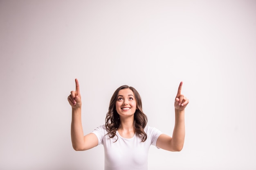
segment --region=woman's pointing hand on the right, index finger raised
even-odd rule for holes
[[[177,96],[175,98],[174,107],[177,110],[184,110],[185,107],[189,104],[189,99],[187,99],[183,94],[181,94],[183,82],[180,82],[180,86],[178,88]]]

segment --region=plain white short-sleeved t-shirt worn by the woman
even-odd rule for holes
[[[105,125],[94,129],[98,137],[99,144],[103,144],[105,153],[105,170],[147,170],[148,169],[148,150],[150,145],[156,146],[157,138],[162,134],[156,128],[146,126],[144,131],[147,134],[145,142],[141,142],[141,137],[135,135],[126,139],[116,132],[117,137],[110,138],[106,135]],[[98,144],[98,145],[99,145]]]

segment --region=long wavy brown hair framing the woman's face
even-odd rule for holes
[[[109,134],[110,138],[117,136],[116,131],[120,127],[120,117],[116,110],[117,95],[121,89],[128,88],[132,90],[132,92],[134,93],[135,100],[137,102],[137,109],[134,113],[134,129],[137,135],[141,136],[141,142],[145,142],[147,139],[147,134],[145,133],[144,128],[148,122],[148,118],[142,111],[142,102],[139,93],[134,87],[130,87],[128,85],[122,85],[119,88],[117,88],[110,100],[108,113],[105,119],[105,126],[108,131],[107,135]]]

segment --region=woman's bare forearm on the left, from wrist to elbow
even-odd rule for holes
[[[81,107],[72,108],[71,140],[74,150],[79,150],[84,144]]]

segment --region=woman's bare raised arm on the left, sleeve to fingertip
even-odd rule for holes
[[[71,122],[71,140],[74,150],[88,150],[98,145],[98,138],[94,133],[88,135],[83,134],[83,126],[81,120],[81,94],[78,80],[76,82],[76,91],[71,91],[67,97],[68,102],[72,107],[72,122]]]

